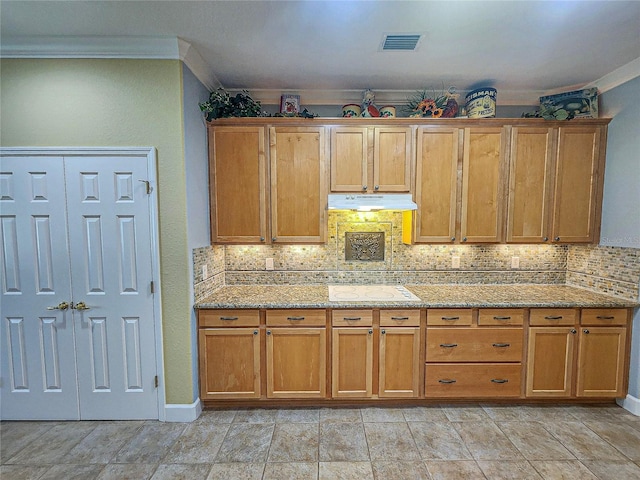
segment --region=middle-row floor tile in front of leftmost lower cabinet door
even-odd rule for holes
[[[268,423],[232,423],[216,462],[266,462],[273,429],[274,424]]]

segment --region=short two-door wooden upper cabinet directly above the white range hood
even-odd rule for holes
[[[411,127],[331,128],[332,192],[410,192]]]

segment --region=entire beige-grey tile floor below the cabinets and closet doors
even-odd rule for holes
[[[1,422],[0,447],[3,480],[640,479],[640,417],[615,404]]]

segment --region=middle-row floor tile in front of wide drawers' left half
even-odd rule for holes
[[[472,460],[464,441],[450,422],[409,422],[423,460]]]

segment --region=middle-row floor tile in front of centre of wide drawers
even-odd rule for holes
[[[523,459],[522,454],[492,421],[460,422],[454,426],[476,460]]]

